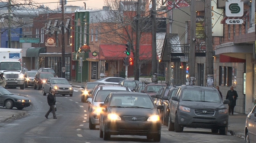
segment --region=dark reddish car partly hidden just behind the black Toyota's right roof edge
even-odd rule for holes
[[[165,86],[166,84],[162,83],[147,83],[145,85],[145,90],[141,90],[140,92],[147,93],[151,97],[156,95],[156,93],[161,89],[161,87]]]

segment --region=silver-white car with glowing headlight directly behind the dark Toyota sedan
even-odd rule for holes
[[[96,125],[100,125],[99,116],[101,112],[100,103],[104,103],[107,95],[110,92],[131,92],[127,87],[122,87],[121,85],[96,85],[92,97],[89,97],[87,101],[89,102],[89,128],[95,129]]]

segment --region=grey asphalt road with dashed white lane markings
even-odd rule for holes
[[[24,90],[7,89],[12,93],[19,93],[31,99],[31,106],[20,112],[27,112],[26,117],[16,120],[6,120],[0,123],[1,143],[139,143],[153,142],[146,136],[113,136],[110,141],[99,137],[99,126],[95,130],[89,129],[88,103],[81,102],[80,91],[74,90],[73,97],[56,96],[57,119],[50,113],[49,119],[44,117],[49,109],[47,96],[42,90],[25,88]],[[0,112],[18,111],[17,108],[0,108]],[[182,133],[168,131],[162,125],[162,143],[243,143],[244,138],[211,133],[211,129],[184,128]]]

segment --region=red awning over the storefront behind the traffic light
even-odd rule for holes
[[[100,60],[123,60],[126,57],[125,45],[102,44],[100,45]],[[133,57],[133,53],[130,54]],[[158,57],[157,57],[158,58]],[[140,45],[140,60],[152,60],[152,46]]]

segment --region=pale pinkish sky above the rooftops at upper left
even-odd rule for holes
[[[59,5],[60,0],[33,0],[33,2],[38,2],[40,5],[49,7],[50,9],[57,9],[61,7]],[[104,0],[67,0],[67,5],[84,7],[86,3],[86,9],[102,9],[104,6]]]

